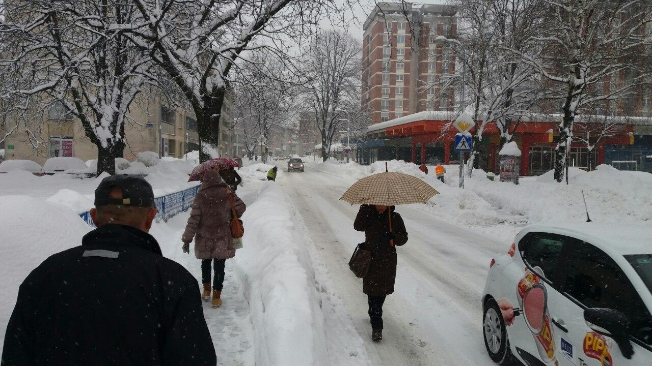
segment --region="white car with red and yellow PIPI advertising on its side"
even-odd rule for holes
[[[492,259],[482,293],[499,365],[652,365],[652,227],[532,225]]]

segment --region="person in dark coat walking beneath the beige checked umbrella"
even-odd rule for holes
[[[390,230],[389,213],[392,216]],[[363,277],[363,292],[368,297],[372,339],[383,339],[383,303],[394,292],[396,279],[396,246],[408,242],[408,232],[394,206],[363,204],[353,223],[353,229],[364,231],[362,249],[371,252],[369,270]]]

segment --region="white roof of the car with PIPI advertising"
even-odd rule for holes
[[[529,225],[518,234],[552,232],[599,247],[610,255],[652,254],[652,227],[625,223],[564,222]]]

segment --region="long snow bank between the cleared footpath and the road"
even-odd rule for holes
[[[250,303],[260,365],[327,364],[314,269],[293,216],[289,197],[271,182],[243,216],[244,247],[234,267]]]

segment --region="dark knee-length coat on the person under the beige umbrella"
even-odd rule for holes
[[[408,242],[408,232],[401,216],[392,210],[392,231],[396,236],[394,246],[389,244],[389,214],[378,213],[376,207],[363,204],[360,207],[353,229],[364,231],[363,249],[370,251],[369,272],[363,277],[363,292],[370,296],[385,296],[394,292],[396,279],[396,246]]]

